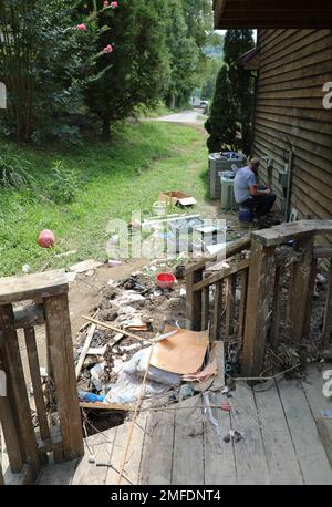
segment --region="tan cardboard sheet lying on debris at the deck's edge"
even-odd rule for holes
[[[167,325],[165,333],[176,329]],[[179,329],[174,337],[154,346],[151,364],[181,375],[196,373],[203,365],[208,345],[208,331],[194,332]]]

